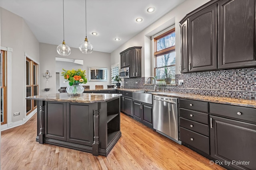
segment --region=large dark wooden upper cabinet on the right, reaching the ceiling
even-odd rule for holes
[[[256,66],[256,0],[211,0],[180,21],[181,72]]]

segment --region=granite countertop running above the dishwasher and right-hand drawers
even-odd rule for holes
[[[176,97],[176,98],[182,98],[182,99],[199,100],[204,102],[256,108],[256,100],[245,100],[245,99],[236,99],[236,98],[203,96],[198,94],[172,93],[172,92],[152,92],[152,95]]]

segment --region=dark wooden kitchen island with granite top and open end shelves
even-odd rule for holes
[[[121,137],[120,96],[60,93],[27,97],[37,100],[36,141],[107,156]]]

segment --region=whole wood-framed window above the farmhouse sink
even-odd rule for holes
[[[154,38],[155,67],[157,80],[175,79],[175,28]]]

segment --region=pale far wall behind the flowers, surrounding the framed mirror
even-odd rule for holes
[[[62,43],[60,41],[60,43]],[[68,42],[66,42],[68,45]],[[63,57],[58,55],[56,51],[57,45],[51,45],[46,43],[40,43],[40,70],[39,70],[39,80],[40,80],[40,94],[51,94],[56,91],[56,62],[55,57]],[[89,85],[90,89],[95,89],[96,84],[102,84],[104,88],[107,88],[108,84],[111,84],[111,73],[110,73],[110,53],[103,53],[99,51],[92,51],[90,54],[83,54],[77,48],[71,48],[71,54],[67,57],[70,59],[80,59],[84,60],[84,65],[80,67],[82,70],[86,70],[86,77],[88,79],[88,67],[105,67],[108,68],[108,82],[87,82],[83,85]],[[63,65],[64,68],[64,65]],[[59,69],[59,68],[58,68]],[[65,70],[70,68],[64,68]],[[74,68],[76,69],[76,68]],[[48,79],[48,88],[51,90],[48,92],[44,91],[46,88],[46,78],[43,77],[46,70],[50,71],[52,75]],[[61,73],[61,72],[60,72]]]

